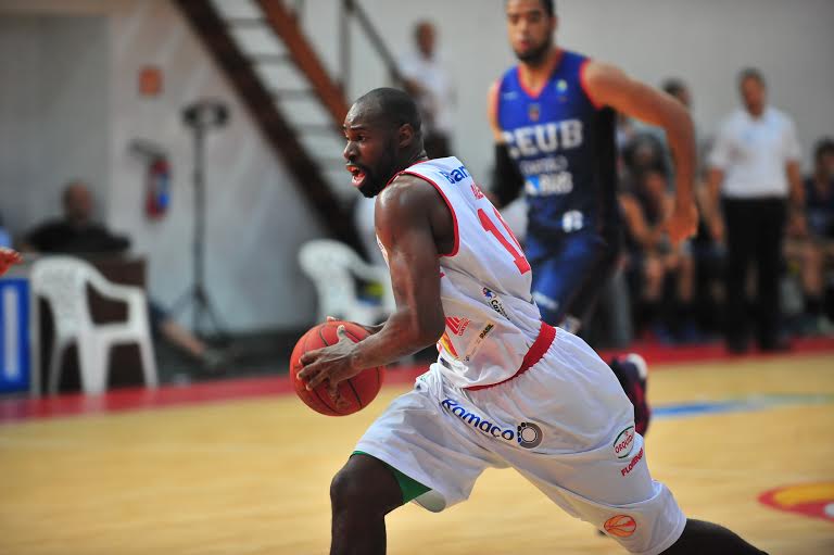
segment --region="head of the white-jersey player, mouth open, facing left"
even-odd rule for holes
[[[344,136],[352,184],[368,198],[425,155],[417,104],[399,89],[374,89],[354,102],[344,118]]]

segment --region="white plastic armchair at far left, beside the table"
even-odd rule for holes
[[[127,303],[127,320],[94,324],[87,299],[88,283],[101,295]],[[156,388],[159,378],[148,324],[148,303],[141,289],[108,281],[90,264],[72,256],[49,256],[35,262],[31,288],[36,295],[47,300],[54,319],[55,340],[48,375],[50,394],[58,392],[61,360],[72,343],[77,345],[85,393],[104,392],[110,349],[122,343],[139,344],[144,383]]]

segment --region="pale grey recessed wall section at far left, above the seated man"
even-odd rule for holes
[[[84,178],[109,197],[108,22],[99,15],[0,16],[0,215],[11,230],[61,214]]]

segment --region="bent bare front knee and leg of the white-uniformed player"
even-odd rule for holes
[[[353,455],[330,484],[330,555],[386,553],[386,515],[403,504],[403,493],[386,465]]]

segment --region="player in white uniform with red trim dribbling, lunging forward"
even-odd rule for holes
[[[303,355],[299,379],[337,398],[363,368],[434,342],[439,356],[333,479],[331,555],[384,553],[388,513],[465,501],[488,467],[515,468],[633,553],[761,553],[687,520],[652,479],[616,377],[581,339],[541,321],[513,234],[459,160],[427,159],[412,99],[372,90],[344,131],[353,185],[377,197],[396,310],[358,343],[342,329],[339,343]]]

